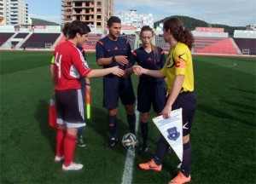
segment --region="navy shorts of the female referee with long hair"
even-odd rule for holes
[[[160,113],[166,106],[166,87],[164,83],[143,84],[137,86],[137,110],[149,112],[151,104],[154,112]]]

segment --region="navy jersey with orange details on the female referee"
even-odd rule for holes
[[[154,52],[146,52],[143,47],[140,47],[132,52],[129,66],[133,66],[135,62],[139,66],[149,70],[160,70],[166,62],[166,55],[163,49],[156,47],[158,55],[154,55]],[[163,78],[154,78],[143,74],[140,77],[140,83],[151,84],[163,82]]]

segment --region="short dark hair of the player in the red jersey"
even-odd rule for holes
[[[85,22],[80,20],[73,20],[73,22],[68,27],[68,38],[73,39],[76,34],[80,35],[87,34],[90,32],[90,27],[86,25]]]

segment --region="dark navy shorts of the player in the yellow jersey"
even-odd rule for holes
[[[172,104],[172,111],[183,108],[183,136],[189,135],[196,109],[195,93],[183,93]]]

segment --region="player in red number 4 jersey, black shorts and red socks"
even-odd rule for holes
[[[55,162],[64,159],[62,170],[81,170],[83,164],[73,163],[77,132],[85,126],[84,103],[80,78],[97,78],[112,73],[124,76],[118,66],[91,70],[77,45],[87,40],[90,27],[74,20],[68,29],[67,42],[60,43],[54,51],[55,106],[57,124]]]

